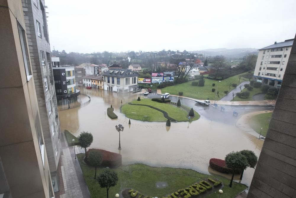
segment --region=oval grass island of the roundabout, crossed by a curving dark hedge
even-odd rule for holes
[[[155,101],[152,101],[151,99],[141,99],[141,101],[133,100],[132,103],[151,105],[153,107],[166,111],[171,118],[174,118],[177,121],[180,121],[180,122],[188,121],[187,111],[181,107],[176,107],[172,104],[155,102]],[[135,120],[155,121],[155,122],[167,121],[167,118],[163,116],[163,113],[155,109],[152,109],[150,107],[125,104],[121,107],[121,113],[125,113],[125,111],[126,111],[126,117],[135,119]],[[190,119],[191,121],[197,120],[198,118],[200,118],[200,115],[196,111],[194,111],[194,115],[195,115],[194,118]]]

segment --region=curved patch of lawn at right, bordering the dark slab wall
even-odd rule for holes
[[[262,113],[259,115],[255,115],[250,119],[250,125],[251,127],[257,132],[260,133],[260,129],[261,127],[262,132],[261,135],[266,136],[267,134],[267,129],[270,123],[270,119],[271,119],[271,113]]]

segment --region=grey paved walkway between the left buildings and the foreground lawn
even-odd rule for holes
[[[59,191],[54,195],[56,198],[90,198],[89,190],[86,186],[82,171],[75,159],[73,146],[68,146],[66,137],[62,133],[62,152],[57,169],[59,175]],[[75,146],[76,154],[84,153],[82,149]]]

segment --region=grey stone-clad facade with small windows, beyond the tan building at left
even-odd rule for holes
[[[34,4],[33,0],[22,0],[22,8],[28,36],[28,45],[42,130],[47,149],[47,157],[50,172],[54,174],[57,171],[61,150],[61,145],[58,141],[60,137],[60,126],[57,108],[55,107],[57,106],[57,102],[53,82],[52,61],[50,56],[44,1],[37,1],[37,4]],[[40,23],[41,36],[38,36],[38,26],[36,25],[36,21]],[[44,52],[44,63],[42,62],[41,51]],[[45,87],[46,80],[47,88]],[[53,129],[52,126],[54,126]],[[55,131],[55,133],[52,131]],[[56,147],[58,150],[57,155],[55,152]]]

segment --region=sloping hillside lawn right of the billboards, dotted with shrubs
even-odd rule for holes
[[[239,75],[244,75],[247,73],[248,72],[245,72],[245,73],[242,73]],[[203,87],[192,86],[191,83],[194,81],[194,80],[192,80],[192,81],[189,81],[186,83],[162,88],[161,92],[162,93],[170,93],[173,95],[179,95],[179,91],[183,91],[183,96],[187,96],[187,97],[195,98],[195,99],[207,99],[209,97],[210,100],[214,100],[216,92],[212,92],[212,88],[217,89],[217,84],[218,84],[218,91],[220,91],[220,93],[219,93],[220,98],[218,98],[218,96],[217,96],[216,99],[219,100],[223,96],[226,95],[223,93],[223,91],[225,91],[225,90],[230,91],[229,90],[229,83],[237,83],[237,85],[239,85],[239,75],[229,77],[225,80],[221,80],[220,83],[218,80],[211,80],[211,79],[205,78],[205,86],[203,86]],[[195,81],[198,81],[198,80],[195,80]],[[249,81],[249,79],[242,77],[240,80],[240,83],[243,81]],[[213,83],[215,83],[214,87],[212,86]],[[230,87],[231,90],[233,88],[234,87],[232,87],[232,86]]]

